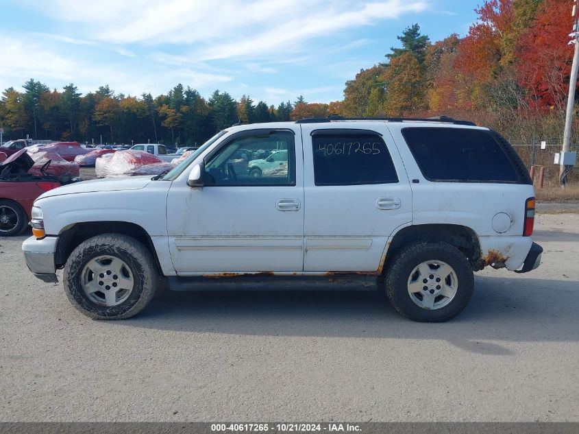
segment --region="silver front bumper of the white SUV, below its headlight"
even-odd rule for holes
[[[42,239],[29,237],[22,243],[28,269],[44,282],[58,282],[56,265],[54,264],[57,243],[58,237],[44,237]]]

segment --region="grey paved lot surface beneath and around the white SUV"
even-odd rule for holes
[[[539,215],[541,269],[481,272],[447,324],[381,293],[171,293],[75,311],[0,238],[0,420],[579,421],[579,215]]]

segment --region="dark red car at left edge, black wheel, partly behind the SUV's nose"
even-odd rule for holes
[[[0,165],[0,237],[23,232],[32,217],[32,204],[45,191],[60,186],[54,176],[27,173],[34,160],[21,149]]]

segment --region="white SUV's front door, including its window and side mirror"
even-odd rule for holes
[[[250,161],[282,149],[286,160],[278,167],[250,175]],[[177,274],[301,272],[301,155],[299,129],[247,130],[225,138],[205,157],[206,185],[174,181],[167,229]]]

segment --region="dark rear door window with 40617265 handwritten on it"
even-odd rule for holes
[[[398,182],[394,163],[380,134],[367,130],[312,132],[316,185]]]

